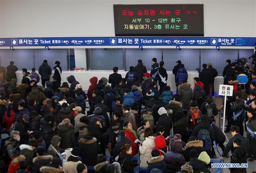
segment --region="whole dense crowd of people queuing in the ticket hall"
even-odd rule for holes
[[[256,161],[256,82],[245,103],[233,72],[237,66],[227,60],[224,83],[234,90],[227,97],[225,132],[233,137],[225,147],[226,137],[214,124],[220,111],[213,100],[218,72],[212,63],[202,65],[192,89],[185,65],[177,61],[175,94],[166,84],[164,62],[153,58],[152,63],[148,73],[138,60],[125,78],[114,67],[108,79],[91,78],[85,93],[73,75],[61,82],[59,61],[51,80],[52,69],[44,60],[40,76],[35,68],[31,73],[22,68],[21,81],[11,61],[0,81],[0,172],[133,173],[138,166],[146,173],[207,173],[210,158],[217,158],[214,141],[222,149],[220,159],[231,151],[231,163]],[[133,160],[136,156],[139,161]]]

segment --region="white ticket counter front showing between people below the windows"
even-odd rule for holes
[[[53,75],[54,71],[52,72]],[[67,82],[66,77],[73,75],[75,76],[75,79],[83,86],[83,90],[88,90],[89,86],[91,85],[89,80],[92,77],[97,77],[98,81],[102,78],[105,77],[108,79],[108,76],[110,74],[112,74],[113,72],[111,71],[97,71],[97,72],[91,72],[91,71],[63,71],[62,72],[62,82]],[[124,71],[120,71],[118,72],[119,74],[122,75],[122,77],[124,78],[127,72]],[[168,74],[168,80],[167,80],[167,85],[171,87],[171,91],[176,91],[176,86],[175,86],[175,82],[174,82],[174,75],[172,74],[171,71],[167,71]],[[17,80],[19,85],[21,84],[21,80],[22,80],[22,73],[21,71],[17,71],[16,72],[17,75]],[[40,76],[40,75],[39,75]],[[194,83],[193,83],[193,78],[194,77],[198,77],[198,72],[188,72],[188,83],[191,84],[191,88],[194,88]],[[40,81],[41,82],[41,81]],[[222,76],[217,76],[215,78],[214,81],[214,91],[218,92],[219,91],[219,85],[223,84],[223,77]],[[69,84],[70,85],[70,84]]]

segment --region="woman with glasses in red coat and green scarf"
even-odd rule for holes
[[[132,124],[129,121],[124,122],[123,130],[126,134],[126,137],[132,141],[132,156],[134,156],[138,153],[138,145],[134,143],[134,141],[138,139],[138,136],[136,132],[132,130]]]

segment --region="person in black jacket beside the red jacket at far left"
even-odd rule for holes
[[[20,144],[27,144],[30,132],[27,132],[25,123],[28,123],[29,116],[27,114],[18,114],[15,122],[15,130],[20,132]]]

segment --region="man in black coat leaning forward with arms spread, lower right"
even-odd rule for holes
[[[241,146],[247,148],[247,152],[250,151],[251,147],[250,147],[250,143],[249,143],[248,139],[246,137],[242,136],[241,134],[239,134],[240,128],[238,126],[232,126],[230,128],[230,131],[231,131],[231,134],[233,137],[231,139],[229,139],[224,151],[222,152],[220,159],[224,159],[224,157],[228,157],[229,156],[228,152],[230,150],[231,150],[231,153],[233,153],[233,151],[234,151],[233,141],[236,138],[241,139],[241,141],[242,141]]]

